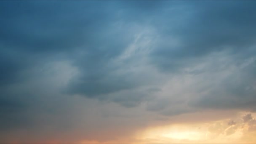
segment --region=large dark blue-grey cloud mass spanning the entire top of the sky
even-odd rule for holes
[[[6,34],[2,34],[2,45],[11,48],[9,55],[26,56],[20,58],[22,61],[18,57],[1,56],[3,61],[9,61],[2,64],[8,65],[3,71],[4,81],[16,80],[19,71],[34,67],[45,57],[57,56],[55,59],[73,61],[80,71],[69,83],[67,93],[103,99],[111,93],[157,87],[149,83],[163,83],[162,79],[157,80],[163,77],[163,71],[170,75],[184,72],[213,52],[230,50],[227,54],[235,56],[237,62],[253,59],[253,55],[244,56],[255,52],[251,48],[255,37],[252,28],[255,21],[251,19],[253,2],[232,5],[170,2],[170,6],[166,2],[118,2],[106,3],[105,7],[95,2],[85,3],[3,2],[3,12],[8,13],[8,7],[13,10],[4,16],[1,29]],[[122,9],[124,5],[127,6]],[[96,12],[93,7],[102,8]],[[132,13],[131,7],[135,7]],[[229,10],[237,7],[230,15]],[[137,15],[139,12],[142,14]],[[18,17],[20,13],[22,19]],[[165,19],[167,15],[170,19]],[[177,19],[178,15],[182,19]],[[7,53],[5,49],[2,51]],[[160,72],[151,74],[156,68]],[[152,78],[155,75],[157,78]]]

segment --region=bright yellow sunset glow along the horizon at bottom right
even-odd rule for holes
[[[256,131],[248,131],[243,116],[196,124],[173,124],[145,129],[137,138],[144,143],[255,143]],[[254,116],[254,114],[253,114]]]

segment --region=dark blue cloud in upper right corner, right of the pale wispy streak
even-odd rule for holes
[[[163,33],[152,52],[152,62],[162,70],[174,71],[198,63],[198,58],[211,52],[231,49],[235,53],[246,53],[255,44],[255,5],[248,1],[190,2],[180,13],[167,11],[170,18],[156,25]],[[166,15],[160,15],[159,19]],[[176,15],[179,17],[172,19]],[[166,41],[165,37],[178,44]]]

